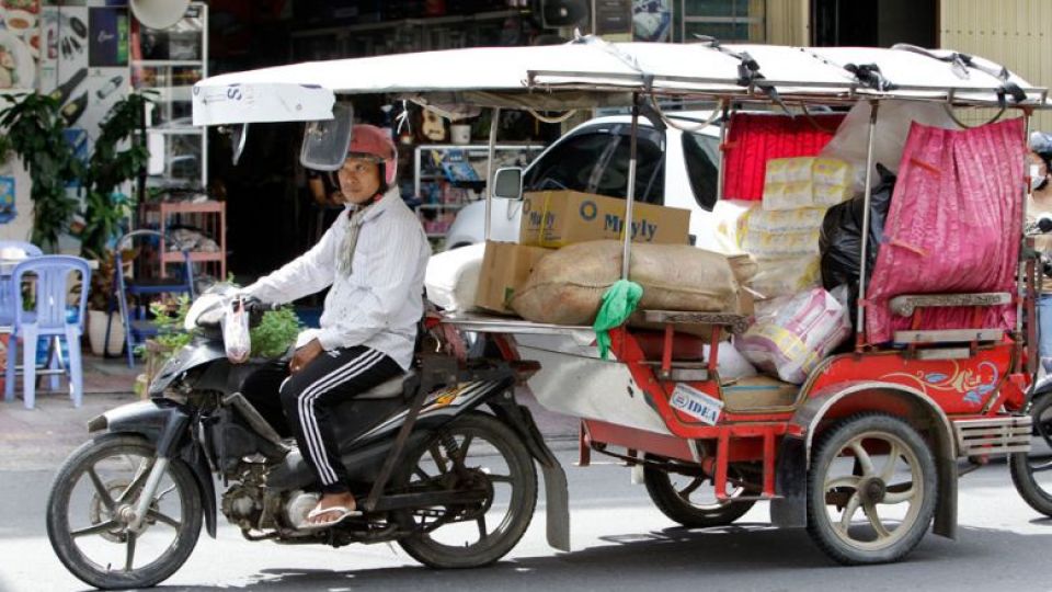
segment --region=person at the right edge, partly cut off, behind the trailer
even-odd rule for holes
[[[1034,132],[1030,135],[1028,174],[1030,196],[1027,200],[1028,226],[1042,219],[1043,226],[1052,227],[1052,186],[1049,183],[1049,163],[1052,160],[1052,134]],[[1040,231],[1039,231],[1040,232]],[[1043,258],[1052,257],[1052,232],[1038,234],[1033,246]],[[1052,373],[1052,277],[1043,277],[1042,293],[1038,296],[1038,353],[1045,374]]]

